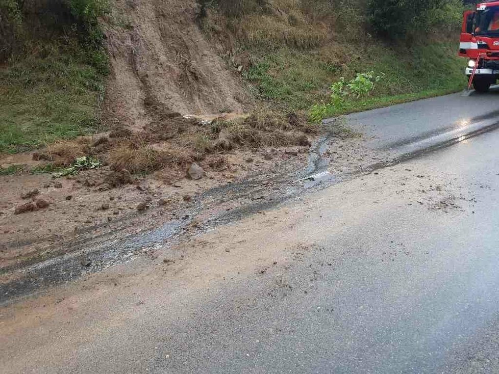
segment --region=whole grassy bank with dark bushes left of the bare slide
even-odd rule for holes
[[[107,0],[0,2],[0,153],[98,130],[107,12]]]

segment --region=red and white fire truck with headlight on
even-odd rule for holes
[[[477,4],[464,12],[459,56],[467,57],[468,90],[487,92],[499,79],[499,1]]]

